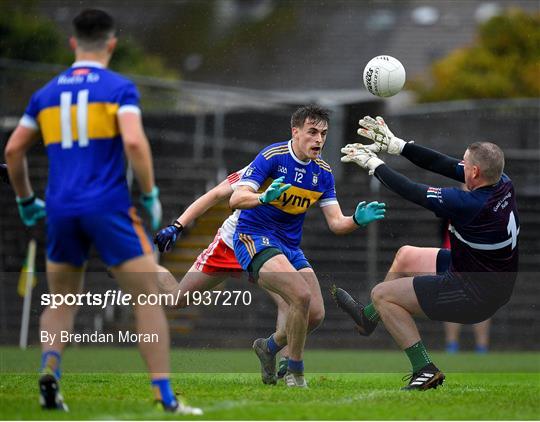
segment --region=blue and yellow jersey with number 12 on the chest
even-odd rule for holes
[[[279,142],[263,149],[250,164],[239,186],[250,186],[258,192],[278,177],[292,186],[266,205],[242,210],[237,232],[272,233],[286,246],[297,248],[302,239],[302,225],[309,207],[337,204],[334,176],[321,159],[301,161],[294,155],[292,141]]]

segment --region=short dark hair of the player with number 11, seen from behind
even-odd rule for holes
[[[115,25],[111,15],[99,9],[86,9],[73,19],[75,38],[86,50],[99,50],[114,36]]]

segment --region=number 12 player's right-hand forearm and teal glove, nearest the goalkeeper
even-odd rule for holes
[[[384,203],[375,201],[366,205],[366,202],[362,201],[350,217],[343,215],[339,204],[327,205],[322,208],[322,211],[328,228],[337,235],[343,235],[353,232],[360,226],[382,220],[386,209]]]

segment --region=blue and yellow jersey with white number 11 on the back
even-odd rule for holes
[[[47,149],[49,214],[130,206],[123,112],[140,113],[135,85],[97,62],[74,63],[32,96],[20,124],[40,130]]]

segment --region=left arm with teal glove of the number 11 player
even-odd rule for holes
[[[26,152],[37,139],[36,130],[19,125],[11,134],[4,151],[11,185],[17,195],[19,216],[29,227],[46,216],[45,202],[37,198],[32,190],[26,161]]]

